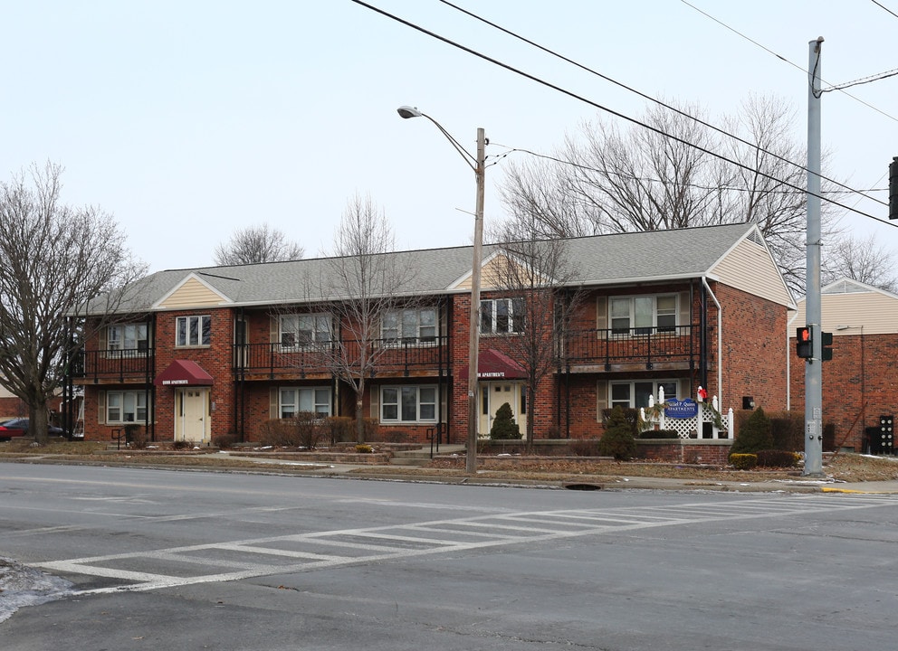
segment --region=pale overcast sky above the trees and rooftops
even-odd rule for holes
[[[878,2],[898,14],[898,0]],[[438,0],[368,4],[608,109],[645,112],[633,93]],[[647,95],[697,103],[715,123],[750,93],[782,98],[801,142],[809,41],[826,39],[825,88],[898,69],[898,17],[873,0],[454,4]],[[473,172],[432,124],[399,118],[403,104],[472,152],[486,129],[487,222],[503,214],[509,148],[550,153],[584,120],[618,119],[352,0],[7,0],[3,23],[3,180],[63,165],[65,201],[113,213],[153,270],[211,265],[216,244],[262,222],[306,257],[326,252],[355,193],[386,212],[401,249],[469,244]],[[830,172],[885,188],[898,76],[847,92],[823,96]],[[857,208],[881,222],[848,214],[844,225],[898,250],[887,209]]]

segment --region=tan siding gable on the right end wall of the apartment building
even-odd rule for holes
[[[767,249],[749,239],[740,241],[711,269],[724,285],[766,298],[779,305],[792,305],[792,298]]]

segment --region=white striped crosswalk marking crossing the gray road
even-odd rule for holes
[[[146,591],[682,524],[794,517],[873,508],[896,501],[898,497],[893,495],[803,495],[784,497],[781,501],[772,502],[768,497],[698,505],[486,514],[409,524],[291,533],[240,541],[206,542],[149,552],[44,561],[32,563],[32,566],[42,570],[122,581],[119,585],[110,587],[75,591],[72,594],[76,596]],[[557,526],[547,527],[547,524]],[[427,533],[439,534],[439,537],[425,537]],[[325,552],[322,552],[322,546],[326,547]],[[225,559],[222,558],[225,552],[231,556],[237,552],[241,556],[236,561],[230,557]],[[203,555],[199,556],[198,553]],[[266,557],[269,562],[264,562]],[[284,562],[271,562],[272,557]],[[177,564],[181,571],[190,566],[212,566],[222,571],[208,574],[188,572],[186,576],[140,571],[140,568],[166,563]],[[115,567],[122,564],[134,569]]]

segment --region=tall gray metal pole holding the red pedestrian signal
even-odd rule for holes
[[[805,362],[805,469],[823,476],[823,335],[820,309],[820,51],[823,37],[808,43],[807,274],[805,319],[813,354]]]

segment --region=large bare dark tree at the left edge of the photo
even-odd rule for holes
[[[74,353],[72,323],[99,300],[114,312],[144,273],[111,215],[62,203],[59,165],[33,165],[0,184],[0,382],[27,405],[30,430],[46,442],[49,401]],[[98,297],[100,297],[98,299]],[[102,317],[92,327],[104,327]]]

